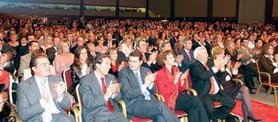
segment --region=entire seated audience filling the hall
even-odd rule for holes
[[[15,89],[19,118],[28,122],[75,121],[65,110],[78,99],[85,122],[178,122],[176,111],[189,122],[218,121],[234,117],[235,99],[243,101],[243,122],[262,121],[250,104],[256,60],[277,81],[277,39],[275,26],[262,23],[1,19],[0,121]]]

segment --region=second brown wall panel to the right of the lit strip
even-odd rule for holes
[[[207,17],[207,0],[176,0],[175,17]]]

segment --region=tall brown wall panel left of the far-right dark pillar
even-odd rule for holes
[[[239,23],[264,22],[266,0],[239,1]]]

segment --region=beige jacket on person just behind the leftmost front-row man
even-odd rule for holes
[[[31,53],[25,54],[20,57],[19,76],[24,74],[24,70],[30,68]]]

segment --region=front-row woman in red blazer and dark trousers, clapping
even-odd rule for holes
[[[205,108],[198,96],[184,94],[185,74],[182,74],[175,65],[172,50],[166,50],[158,54],[158,65],[163,67],[156,72],[156,85],[158,93],[165,98],[166,104],[171,110],[183,110],[188,114],[189,122],[208,122]]]

